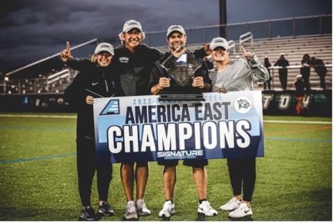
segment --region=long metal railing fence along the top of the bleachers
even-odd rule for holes
[[[332,33],[332,15],[312,15],[267,19],[253,22],[240,22],[226,25],[198,26],[185,28],[188,44],[203,44],[220,36],[221,27],[225,28],[226,40],[239,40],[239,36],[251,32],[253,38],[293,37],[296,35],[323,35]],[[151,47],[166,46],[166,31],[145,33],[145,43]],[[115,40],[116,38],[114,38]]]

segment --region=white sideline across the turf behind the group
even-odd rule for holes
[[[46,118],[60,118],[60,119],[76,119],[77,115],[9,115],[0,114],[0,117],[46,117]],[[317,121],[290,121],[290,120],[264,120],[269,123],[299,123],[299,124],[332,124],[332,122],[317,122]]]

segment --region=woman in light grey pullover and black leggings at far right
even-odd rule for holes
[[[210,44],[212,58],[216,69],[209,73],[212,79],[212,91],[226,93],[228,91],[253,90],[253,81],[268,81],[269,74],[257,60],[257,57],[247,52],[244,47],[246,60],[228,58],[228,41],[224,38],[214,38]],[[250,201],[255,188],[256,163],[254,158],[228,158],[228,172],[234,196],[221,210],[231,211],[230,217],[245,217],[253,215]],[[243,195],[241,195],[241,187]]]

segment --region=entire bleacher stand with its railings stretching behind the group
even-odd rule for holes
[[[310,28],[310,30],[308,30],[308,28],[303,29],[305,23],[308,24],[310,19],[315,21],[315,24],[319,27]],[[296,20],[299,22],[296,23]],[[279,24],[282,21],[291,25],[289,30],[283,32],[272,28],[273,24]],[[246,47],[247,51],[254,52],[261,62],[263,62],[264,57],[267,56],[271,65],[276,63],[280,53],[285,53],[285,58],[287,58],[290,63],[288,67],[287,90],[294,90],[296,75],[300,73],[301,58],[303,54],[308,53],[311,57],[314,56],[315,58],[324,60],[328,69],[326,88],[331,89],[332,31],[329,24],[331,24],[331,15],[227,24],[225,26],[227,31],[226,35],[230,37],[228,38],[228,40],[231,41],[230,46],[233,46],[230,50],[230,58],[236,58],[237,56],[243,58],[241,51],[239,51],[240,43]],[[255,26],[262,27],[263,30],[257,30]],[[239,27],[240,31],[246,27],[245,33],[242,33],[242,31],[233,32],[236,27]],[[268,29],[268,27],[270,28]],[[200,49],[205,42],[209,42],[212,38],[219,35],[220,28],[221,25],[187,28],[186,32],[189,33],[189,44],[187,48],[191,51]],[[254,33],[251,33],[252,30]],[[193,33],[197,34],[194,35]],[[164,36],[166,33],[164,31],[146,33],[145,42],[161,51],[167,51],[168,46],[166,42],[161,39],[161,35]],[[235,40],[238,38],[239,40]],[[111,42],[114,46],[120,43],[118,38],[95,38],[75,47],[71,47],[72,55],[75,57],[90,57],[99,42]],[[281,90],[278,68],[279,67],[271,68],[272,90]],[[67,73],[65,70],[69,70],[69,72]],[[35,63],[8,72],[6,74],[7,79],[0,81],[0,94],[62,94],[76,74],[76,71],[65,67],[58,58],[58,53],[55,53]],[[311,68],[310,86],[312,90],[320,90],[319,76],[313,68]],[[255,89],[262,90],[263,83],[257,83],[254,87]]]

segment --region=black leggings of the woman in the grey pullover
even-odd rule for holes
[[[228,172],[234,195],[241,195],[243,188],[244,201],[252,201],[256,179],[255,158],[228,158]]]

